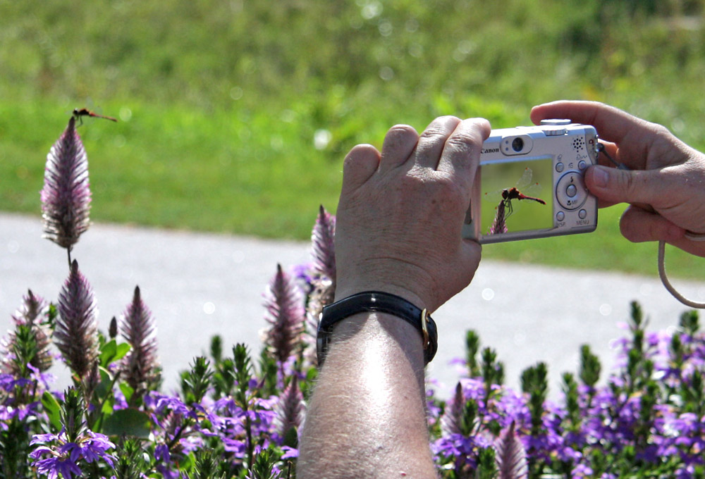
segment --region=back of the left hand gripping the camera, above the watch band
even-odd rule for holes
[[[420,137],[392,127],[381,154],[350,151],[336,213],[336,300],[378,290],[435,311],[470,283],[481,247],[460,232],[489,132],[487,120],[446,116]]]

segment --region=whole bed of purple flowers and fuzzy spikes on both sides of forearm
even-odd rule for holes
[[[85,156],[73,124],[60,141]],[[75,161],[60,153],[55,146],[50,156]],[[51,211],[63,211],[61,198],[85,197],[81,188],[60,185],[71,184],[61,175],[73,178],[78,168],[87,178],[87,171],[59,163],[43,194],[55,201]],[[78,240],[51,228],[53,240]],[[305,398],[317,375],[310,337],[316,312],[335,290],[334,232],[335,217],[321,207],[312,263],[295,273],[277,267],[257,361],[244,344],[223,354],[214,337],[209,357],[192,361],[173,394],[159,390],[156,323],[139,288],[107,336],[97,329],[92,288],[75,261],[58,306],[30,291],[0,349],[0,478],[293,477]],[[118,326],[125,342],[118,342]],[[429,391],[439,475],[705,478],[705,334],[697,313],[684,313],[673,332],[654,333],[632,304],[625,328],[618,368],[601,380],[599,359],[582,347],[580,370],[563,375],[558,402],[548,400],[546,364],[527,368],[521,391],[513,391],[503,385],[494,350],[481,352],[479,337],[468,332],[458,360],[466,374],[455,394],[446,402]],[[52,341],[73,371],[64,392],[51,390],[47,374]]]

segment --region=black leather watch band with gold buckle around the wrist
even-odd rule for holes
[[[436,356],[438,350],[438,331],[436,323],[425,309],[419,309],[414,304],[396,294],[377,291],[366,291],[341,299],[324,306],[321,321],[318,324],[316,349],[318,366],[323,365],[331,341],[333,326],[349,316],[365,311],[379,311],[403,319],[419,330],[424,342],[424,363],[428,364]]]

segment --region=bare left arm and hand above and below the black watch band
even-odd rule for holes
[[[443,117],[419,137],[389,130],[345,158],[336,220],[336,301],[397,294],[435,311],[474,275],[479,244],[461,239],[486,120]],[[431,478],[422,339],[394,316],[338,323],[300,441],[299,478]]]

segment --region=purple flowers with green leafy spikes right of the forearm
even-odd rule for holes
[[[443,429],[433,442],[444,477],[493,470],[501,461],[482,466],[483,454],[505,452],[513,435],[522,443],[529,478],[703,477],[705,334],[697,314],[684,313],[673,334],[647,333],[633,303],[627,327],[631,337],[621,340],[618,352],[622,366],[598,386],[599,360],[582,347],[579,381],[563,375],[558,404],[546,399],[542,363],[522,374],[517,394],[488,387],[483,368],[472,373],[473,361],[465,361],[471,377],[460,380],[443,405]]]

